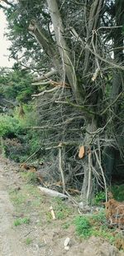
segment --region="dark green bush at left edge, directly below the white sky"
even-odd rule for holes
[[[27,103],[36,90],[31,86],[31,80],[31,74],[20,67],[12,71],[0,70],[0,94],[5,99]]]

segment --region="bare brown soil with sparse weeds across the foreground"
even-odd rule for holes
[[[22,191],[23,181],[14,162],[0,157],[0,255],[1,256],[124,256],[114,246],[100,238],[87,241],[77,238],[74,225],[64,229],[65,220],[50,220],[50,198],[23,195],[21,208],[12,205],[10,191]],[[27,191],[26,191],[27,192]],[[33,204],[32,204],[33,202]],[[36,205],[35,205],[36,204]],[[17,207],[17,208],[16,208]],[[14,221],[22,216],[30,217],[30,224],[15,226]],[[69,216],[71,223],[72,215]],[[66,220],[66,224],[68,223]],[[69,237],[69,250],[64,249],[64,240]]]

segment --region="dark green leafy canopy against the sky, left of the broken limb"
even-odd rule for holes
[[[42,12],[45,14],[42,15]],[[26,65],[28,60],[33,60],[34,66],[40,66],[44,52],[41,52],[40,46],[36,44],[35,38],[29,33],[28,27],[31,19],[39,20],[40,17],[43,17],[45,20],[49,17],[48,12],[45,11],[45,2],[40,0],[21,1],[19,4],[14,2],[13,7],[8,6],[5,13],[9,31],[7,39],[12,41],[12,46],[9,48],[11,56],[17,60],[18,52],[21,52],[23,53],[21,58],[23,65]],[[47,22],[42,21],[42,26],[44,23]],[[44,60],[43,62],[45,63]]]

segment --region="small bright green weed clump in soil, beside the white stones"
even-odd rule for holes
[[[88,238],[92,233],[92,225],[90,220],[86,216],[77,216],[74,220],[76,226],[76,232],[83,238]]]

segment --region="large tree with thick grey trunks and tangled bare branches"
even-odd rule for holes
[[[6,11],[12,49],[25,47],[27,59],[32,58],[45,71],[54,70],[49,72],[53,80],[44,73],[33,85],[46,85],[45,93],[48,85],[63,89],[68,85],[73,97],[64,96],[58,104],[79,109],[79,117],[84,119],[80,131],[85,152],[82,199],[88,203],[96,183],[107,192],[115,152],[123,158],[124,2],[19,1],[14,5],[14,18],[12,8]]]

